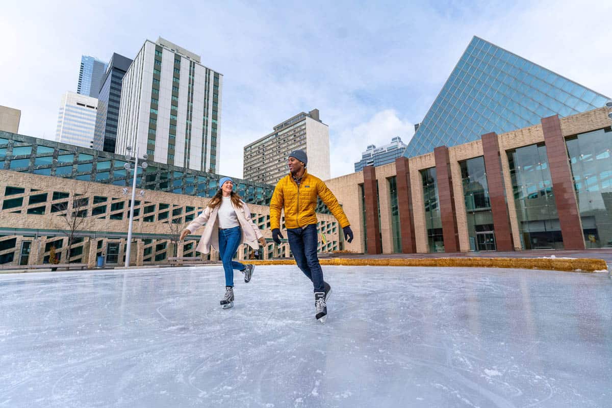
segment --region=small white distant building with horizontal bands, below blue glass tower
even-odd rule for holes
[[[75,92],[66,92],[62,95],[55,141],[92,147],[97,109],[97,98]]]

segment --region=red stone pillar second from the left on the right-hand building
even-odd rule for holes
[[[413,254],[417,251],[414,237],[414,219],[412,218],[412,193],[408,158],[395,159],[395,185],[397,186],[397,207],[400,212],[401,251]]]

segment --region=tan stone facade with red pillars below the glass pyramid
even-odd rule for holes
[[[562,229],[562,231],[565,231],[563,234],[564,247],[567,249],[584,248],[584,240],[581,234],[571,232],[573,230],[581,231],[581,224],[580,217],[578,216],[575,191],[573,190],[572,180],[570,178],[571,170],[568,165],[567,149],[565,148],[564,138],[579,133],[610,128],[612,121],[610,121],[608,117],[608,111],[608,108],[599,108],[563,117],[561,119],[558,119],[556,116],[544,118],[542,119],[542,124],[539,125],[521,128],[500,135],[490,133],[488,135],[482,135],[482,139],[480,140],[449,147],[447,149],[449,173],[446,179],[449,180],[450,184],[446,190],[452,190],[453,194],[440,193],[440,205],[442,208],[442,217],[447,217],[447,228],[450,228],[449,225],[452,226],[453,217],[455,218],[455,231],[458,242],[453,240],[452,246],[446,247],[447,239],[445,236],[446,251],[449,251],[449,249],[451,251],[458,250],[462,252],[470,250],[466,206],[459,163],[460,161],[480,156],[484,156],[485,166],[487,168],[487,181],[491,196],[491,212],[494,218],[493,222],[497,250],[523,250],[521,247],[517,209],[513,199],[514,192],[507,151],[537,143],[545,143],[550,149],[550,152],[548,152],[548,160],[550,161],[551,174],[553,175],[553,190],[556,200],[560,200],[557,202],[559,218],[563,220],[562,225],[565,224],[565,228]],[[545,137],[545,135],[548,136]],[[483,139],[485,140],[484,143]],[[396,174],[403,176],[407,175],[407,181],[409,181],[409,183],[406,182],[405,184],[403,184],[403,182],[398,183],[401,237],[402,240],[406,242],[405,245],[402,245],[403,252],[411,253],[416,250],[417,253],[427,253],[430,251],[427,238],[427,227],[425,225],[423,185],[420,171],[428,168],[437,168],[438,161],[436,161],[433,152],[411,157],[406,159],[406,161],[407,165],[403,161],[396,161],[391,165],[376,167],[376,171],[373,173],[375,174],[375,179],[378,180],[378,200],[381,212],[378,231],[379,235],[382,237],[383,253],[393,252],[391,240],[392,222],[389,216],[389,187],[386,180],[388,177],[395,176]],[[360,196],[359,186],[364,185],[364,172],[368,171],[370,170],[364,168],[364,171],[348,174],[338,177],[337,179],[327,180],[326,182],[327,185],[332,188],[332,191],[334,191],[340,204],[343,205],[346,215],[351,221],[351,227],[353,231],[356,232],[356,241],[357,231],[359,232],[360,245],[347,245],[346,248],[354,248],[355,251],[360,252],[364,251],[363,242],[366,234],[365,231],[362,231],[362,226],[364,225],[364,208],[361,203],[362,200],[370,203],[375,202],[372,197],[366,196],[362,198]],[[438,179],[441,180],[439,175]],[[402,199],[402,195],[406,195],[408,184],[408,200],[411,202],[411,206],[406,206],[406,198]],[[373,194],[373,191],[376,190],[364,188],[364,192],[368,195]],[[452,198],[452,200],[450,198]],[[372,204],[370,204],[370,206],[371,205]],[[448,208],[445,210],[444,207]],[[366,215],[368,215],[367,211]],[[407,215],[410,217],[408,221],[406,221]],[[368,217],[367,221],[369,220],[370,217]],[[568,223],[570,226],[567,226]],[[373,223],[366,222],[365,224],[367,229],[376,228],[375,225],[372,225]],[[414,232],[412,232],[412,229],[414,229]],[[450,229],[452,230],[452,228]],[[409,242],[412,234],[414,234],[414,250],[412,250]],[[372,234],[372,236],[375,237],[376,234]],[[368,252],[370,249],[369,247],[368,239]]]

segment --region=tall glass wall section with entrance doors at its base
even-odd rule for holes
[[[468,220],[469,248],[471,251],[494,251],[495,234],[493,213],[489,199],[484,157],[460,161],[461,184]]]

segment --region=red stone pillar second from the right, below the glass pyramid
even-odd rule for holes
[[[498,251],[513,251],[512,232],[510,232],[510,217],[506,204],[506,190],[504,188],[504,175],[499,158],[499,141],[496,133],[487,133],[481,136],[482,151],[485,157],[485,170],[487,171],[487,184],[491,200],[491,213],[493,214],[493,228],[495,243]]]

